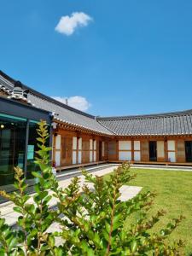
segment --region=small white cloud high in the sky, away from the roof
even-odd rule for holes
[[[62,16],[55,31],[71,36],[79,26],[87,26],[92,18],[83,12],[75,12],[71,16]]]

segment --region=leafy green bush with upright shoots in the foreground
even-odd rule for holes
[[[15,204],[20,213],[13,230],[0,219],[0,255],[181,255],[182,241],[173,245],[167,237],[181,222],[182,216],[158,234],[151,229],[165,214],[164,211],[148,219],[147,213],[154,201],[154,193],[140,193],[129,201],[119,200],[119,189],[129,183],[129,165],[119,166],[108,179],[94,177],[83,171],[85,183],[80,186],[74,177],[67,188],[61,188],[52,174],[49,150],[45,143],[49,137],[44,121],[38,128],[38,158],[41,172],[32,172],[37,178],[35,193],[26,194],[26,180],[19,167],[15,168],[17,191],[0,195]],[[57,208],[50,208],[51,199]],[[139,218],[125,230],[125,220],[133,212]],[[50,232],[51,224],[60,229]]]

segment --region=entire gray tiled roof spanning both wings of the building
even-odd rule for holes
[[[0,85],[13,90],[15,80],[0,71]],[[56,119],[70,125],[118,136],[192,135],[192,109],[183,112],[159,113],[139,116],[96,118],[88,113],[55,101],[36,90],[29,89],[28,100],[36,108],[58,114]],[[8,92],[9,92],[8,91]]]

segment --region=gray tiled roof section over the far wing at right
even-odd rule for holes
[[[192,110],[140,116],[97,118],[119,136],[192,135]]]

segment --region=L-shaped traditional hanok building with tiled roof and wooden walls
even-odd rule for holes
[[[15,110],[19,107],[20,112]],[[59,170],[102,161],[192,166],[192,110],[96,118],[0,72],[0,180],[10,173],[13,179],[16,165],[24,166],[30,177],[36,144],[34,125],[31,135],[26,126],[38,119],[50,123],[50,116],[52,157]]]

